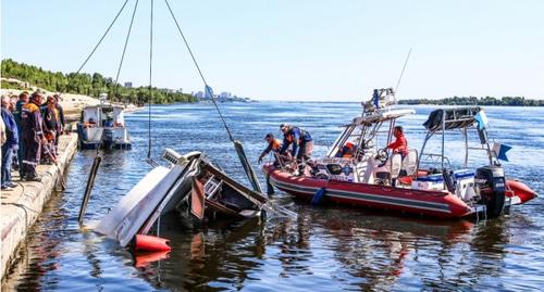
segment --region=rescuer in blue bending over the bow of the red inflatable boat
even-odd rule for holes
[[[283,132],[283,145],[280,150],[280,155],[284,154],[289,145],[293,144],[290,154],[297,158],[298,175],[301,176],[304,175],[305,163],[310,158],[313,151],[313,139],[311,139],[308,131],[296,126],[282,124],[280,125],[280,129]]]

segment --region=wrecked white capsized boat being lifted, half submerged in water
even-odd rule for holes
[[[258,217],[267,198],[230,178],[200,152],[180,155],[166,149],[169,166],[157,166],[98,224],[95,231],[124,247],[147,234],[160,216],[191,214],[199,220]]]

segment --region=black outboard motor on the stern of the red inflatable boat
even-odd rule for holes
[[[505,172],[502,166],[486,165],[477,169],[475,181],[480,189],[481,203],[485,204],[487,218],[503,213],[505,206]]]

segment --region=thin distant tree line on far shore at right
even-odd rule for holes
[[[453,97],[446,99],[407,99],[399,100],[399,104],[437,104],[437,105],[512,105],[512,106],[544,106],[544,100],[526,99],[524,97]]]

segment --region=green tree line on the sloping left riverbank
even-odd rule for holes
[[[104,77],[100,73],[69,73],[45,71],[41,67],[18,63],[11,59],[2,60],[1,76],[15,78],[32,86],[48,91],[85,94],[94,98],[102,92],[113,102],[134,103],[143,105],[149,102],[149,87],[127,88],[115,84],[113,78]],[[2,81],[2,88],[27,89],[20,85]],[[191,94],[173,92],[169,89],[151,88],[154,104],[174,102],[198,102]]]

